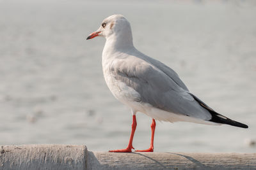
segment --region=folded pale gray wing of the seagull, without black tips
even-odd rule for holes
[[[211,113],[195,101],[174,71],[175,74],[166,74],[150,62],[132,56],[116,61],[111,72],[116,80],[136,90],[142,103],[189,117],[211,119]]]

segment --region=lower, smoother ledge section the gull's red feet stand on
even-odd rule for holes
[[[88,169],[256,169],[256,153],[88,152]]]

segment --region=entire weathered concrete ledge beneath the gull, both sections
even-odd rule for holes
[[[109,153],[83,145],[0,146],[0,169],[256,169],[256,153]]]

